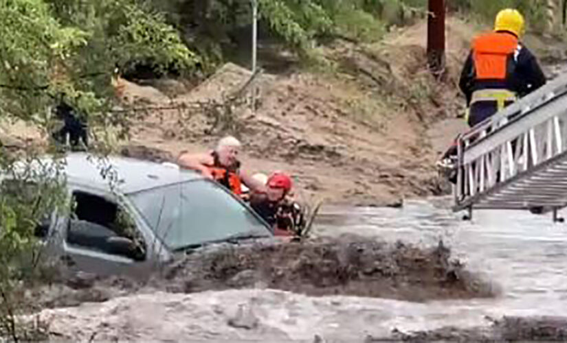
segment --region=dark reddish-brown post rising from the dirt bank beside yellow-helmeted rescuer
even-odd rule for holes
[[[436,77],[445,70],[445,0],[429,0],[427,64]]]

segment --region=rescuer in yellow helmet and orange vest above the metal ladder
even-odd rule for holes
[[[518,10],[501,10],[494,31],[474,38],[460,74],[459,88],[467,101],[466,120],[474,127],[546,83],[537,59],[520,42],[524,18]],[[456,182],[456,140],[438,167]]]

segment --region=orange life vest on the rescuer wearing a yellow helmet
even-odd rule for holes
[[[472,49],[476,80],[507,80],[518,38],[505,32],[484,34],[474,39]]]

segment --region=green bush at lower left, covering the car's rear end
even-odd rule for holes
[[[48,265],[38,237],[52,213],[63,213],[65,185],[61,163],[43,165],[30,154],[14,164],[0,156],[0,169],[10,180],[0,183],[0,340],[34,340],[36,332],[21,325],[18,316],[32,304],[23,296],[25,285],[37,281]],[[43,236],[45,241],[49,237]]]

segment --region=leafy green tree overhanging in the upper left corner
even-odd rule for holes
[[[0,115],[41,124],[60,93],[96,119],[117,67],[198,61],[162,14],[133,0],[1,0],[0,34]]]

